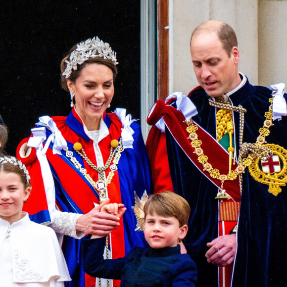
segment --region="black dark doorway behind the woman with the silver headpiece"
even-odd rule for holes
[[[60,88],[62,56],[98,36],[117,52],[118,76],[110,110],[140,118],[140,0],[10,0],[0,10],[0,114],[9,129],[6,151],[30,135],[39,116],[68,115]]]

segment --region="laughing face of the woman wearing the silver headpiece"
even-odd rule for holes
[[[75,92],[75,108],[88,130],[98,130],[102,114],[114,96],[113,72],[102,64],[88,64],[75,82],[67,79]]]

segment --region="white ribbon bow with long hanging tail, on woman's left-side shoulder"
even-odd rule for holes
[[[36,125],[48,127],[52,134],[48,137],[45,146],[43,147],[43,143],[46,140],[46,128],[39,127],[32,129],[33,137],[31,137],[27,143],[28,146],[36,148],[37,158],[40,163],[41,173],[44,183],[44,188],[46,192],[47,204],[48,204],[48,211],[50,214],[51,223],[53,222],[53,212],[55,211],[55,187],[53,176],[51,173],[51,169],[48,163],[48,159],[46,156],[46,152],[50,142],[53,143],[53,154],[61,154],[60,150],[67,147],[67,142],[63,138],[61,132],[57,128],[54,121],[48,117],[40,117],[40,122]]]

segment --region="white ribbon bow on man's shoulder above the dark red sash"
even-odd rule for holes
[[[193,102],[191,101],[191,99],[188,96],[183,95],[183,93],[175,92],[175,93],[167,96],[167,98],[165,99],[165,102],[167,102],[171,98],[176,98],[176,106],[177,106],[176,109],[178,111],[182,112],[182,114],[184,115],[186,120],[190,120],[192,117],[194,117],[195,115],[198,114],[196,107],[193,104]],[[156,122],[155,126],[164,133],[165,124],[164,124],[163,118],[160,118]]]

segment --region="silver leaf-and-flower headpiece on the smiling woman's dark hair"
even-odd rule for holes
[[[65,61],[67,67],[62,75],[66,76],[66,79],[69,78],[72,70],[77,70],[77,64],[81,65],[89,58],[95,57],[110,59],[115,65],[118,64],[116,53],[110,48],[110,45],[94,37],[77,45],[77,48],[72,51],[69,61]]]

